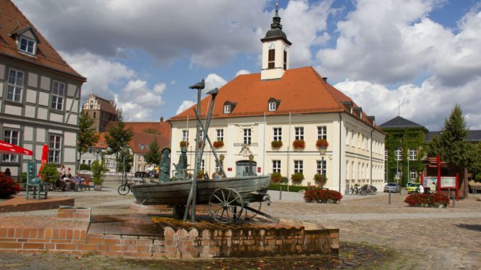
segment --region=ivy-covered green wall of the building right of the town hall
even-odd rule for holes
[[[399,166],[400,183],[405,186],[409,181],[409,171],[416,169],[416,181],[419,181],[419,174],[423,171],[424,167],[421,159],[426,154],[426,146],[424,144],[424,137],[428,133],[428,130],[424,127],[416,128],[382,128],[387,134],[385,138],[385,150],[387,150],[387,181],[396,182],[396,172]],[[402,148],[402,159],[399,162],[396,160],[397,148]],[[417,150],[416,160],[409,160],[408,171],[408,159],[409,149],[414,148]]]

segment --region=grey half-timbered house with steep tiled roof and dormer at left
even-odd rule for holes
[[[2,169],[18,176],[26,159],[77,167],[82,77],[10,0],[0,0],[1,140],[33,150],[33,157],[2,154]],[[40,167],[40,164],[38,165]]]

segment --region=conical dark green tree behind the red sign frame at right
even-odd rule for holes
[[[465,142],[468,136],[466,120],[461,107],[456,104],[449,118],[444,120],[444,127],[438,136],[433,137],[429,145],[429,156],[441,154],[441,160],[453,167],[464,169],[472,163],[472,145]]]

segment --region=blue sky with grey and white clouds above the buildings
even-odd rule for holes
[[[239,74],[259,73],[274,0],[13,0],[127,121],[175,116]],[[481,129],[480,0],[279,1],[290,65],[314,67],[380,125],[440,130],[459,104]]]

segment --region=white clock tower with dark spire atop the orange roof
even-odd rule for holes
[[[275,4],[275,15],[272,17],[270,30],[262,38],[262,69],[260,79],[280,79],[289,68],[289,45],[287,35],[282,31],[278,4]]]

